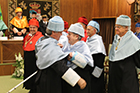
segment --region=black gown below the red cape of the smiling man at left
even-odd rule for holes
[[[29,77],[31,74],[33,74],[37,70],[38,69],[36,66],[35,50],[24,51],[24,79]],[[34,86],[35,77],[36,77],[36,75],[34,75],[32,78],[30,78],[28,81],[26,81],[23,84],[23,87],[25,87],[25,89],[35,90],[35,86]]]

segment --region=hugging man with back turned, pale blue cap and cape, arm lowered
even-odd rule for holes
[[[69,55],[57,45],[63,30],[64,21],[55,16],[49,20],[46,31],[49,36],[40,38],[36,43],[36,64],[39,68],[36,77],[37,93],[62,93],[61,78],[71,86],[78,84],[81,89],[86,86],[85,80],[67,67]]]

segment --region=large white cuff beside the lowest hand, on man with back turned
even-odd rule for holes
[[[71,86],[75,86],[75,84],[79,81],[81,77],[71,68],[69,68],[64,75],[62,76],[62,79],[64,79],[67,83],[69,83]]]

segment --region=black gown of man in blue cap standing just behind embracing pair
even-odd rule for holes
[[[104,59],[105,55],[102,53],[92,54],[92,57],[94,59],[94,67],[91,68],[91,93],[104,93],[105,90],[105,84],[104,84],[104,71],[101,73],[101,76],[99,78],[92,75],[93,70],[95,69],[95,66],[104,69]]]

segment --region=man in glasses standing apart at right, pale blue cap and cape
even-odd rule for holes
[[[131,19],[120,15],[109,53],[108,93],[139,93],[136,67],[140,68],[140,41],[130,28]]]

